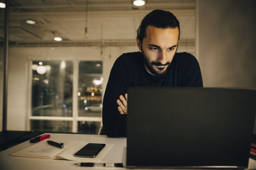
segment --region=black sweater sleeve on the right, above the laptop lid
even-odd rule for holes
[[[182,87],[203,87],[202,74],[196,58],[186,54],[186,61],[182,66]]]

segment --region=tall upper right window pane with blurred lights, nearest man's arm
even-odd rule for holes
[[[102,61],[79,62],[79,117],[101,117],[102,82]]]

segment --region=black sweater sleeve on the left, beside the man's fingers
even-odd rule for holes
[[[121,94],[124,96],[127,93],[129,83],[128,68],[123,54],[116,59],[109,74],[102,108],[102,129],[103,133],[109,137],[126,136],[127,115],[119,113],[116,100]]]

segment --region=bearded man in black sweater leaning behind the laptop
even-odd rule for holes
[[[154,10],[143,18],[137,31],[140,52],[122,54],[111,69],[103,100],[104,134],[126,136],[129,87],[203,87],[196,58],[176,53],[179,36],[179,21],[169,11]]]

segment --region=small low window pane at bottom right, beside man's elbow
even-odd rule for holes
[[[83,134],[98,134],[100,122],[78,122],[77,132]]]

